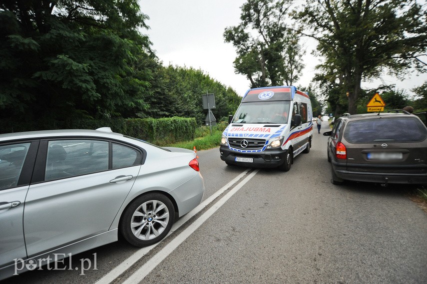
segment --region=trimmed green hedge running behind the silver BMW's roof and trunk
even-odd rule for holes
[[[0,121],[0,133],[47,129],[96,129],[99,127],[110,127],[114,132],[164,146],[194,139],[197,125],[195,118],[185,117],[74,119],[49,123],[16,123],[6,119]]]

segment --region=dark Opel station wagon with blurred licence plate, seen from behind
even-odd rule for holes
[[[348,114],[323,135],[333,184],[427,184],[427,128],[415,115]]]

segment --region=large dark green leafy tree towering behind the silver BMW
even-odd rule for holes
[[[143,109],[151,72],[138,61],[154,56],[138,32],[146,18],[137,0],[2,0],[1,117]]]

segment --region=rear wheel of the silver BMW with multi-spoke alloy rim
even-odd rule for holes
[[[169,198],[149,193],[136,198],[123,212],[120,233],[131,245],[145,247],[162,240],[175,220],[175,209]]]

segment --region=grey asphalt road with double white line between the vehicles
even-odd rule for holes
[[[204,201],[218,197],[159,245],[117,242],[4,283],[426,284],[427,214],[411,188],[332,185],[327,137],[313,135],[286,173],[199,151]]]

